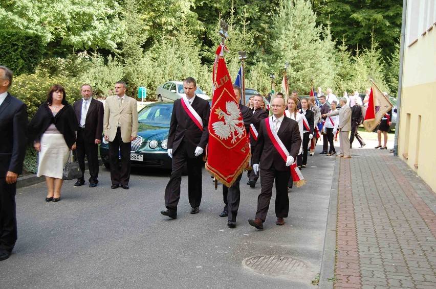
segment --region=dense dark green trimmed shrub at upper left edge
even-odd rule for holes
[[[15,75],[33,73],[44,52],[40,35],[24,30],[0,30],[0,65],[7,66]]]

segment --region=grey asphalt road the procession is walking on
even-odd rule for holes
[[[101,167],[96,188],[62,187],[61,201],[45,202],[46,184],[17,191],[18,241],[0,262],[2,288],[314,288],[321,267],[334,157],[308,157],[308,184],[291,190],[290,215],[275,225],[274,200],[264,230],[251,227],[260,184],[241,186],[237,227],[220,218],[222,191],[203,171],[200,213],[189,213],[187,177],[182,179],[178,219],[160,214],[168,171],[134,169],[130,189],[111,189]],[[85,177],[89,176],[86,173]],[[244,265],[253,256],[281,261]],[[285,260],[288,274],[277,273]]]

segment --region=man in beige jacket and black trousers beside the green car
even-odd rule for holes
[[[138,135],[138,108],[136,100],[125,95],[125,92],[125,82],[115,83],[116,95],[108,97],[104,105],[103,130],[104,138],[109,141],[111,188],[121,186],[128,189],[130,142]]]

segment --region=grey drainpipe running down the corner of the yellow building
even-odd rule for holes
[[[395,124],[394,156],[398,157],[398,133],[400,131],[401,94],[403,92],[404,43],[406,41],[407,0],[403,0],[403,16],[401,18],[400,40],[400,74],[398,76],[397,123]]]

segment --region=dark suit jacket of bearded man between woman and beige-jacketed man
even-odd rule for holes
[[[83,99],[76,101],[73,104],[73,110],[76,113],[77,125],[80,125],[80,118],[82,116],[82,102]],[[90,107],[86,112],[85,129],[83,139],[88,143],[95,143],[96,139],[101,139],[103,135],[103,114],[104,106],[101,101],[91,99]]]

